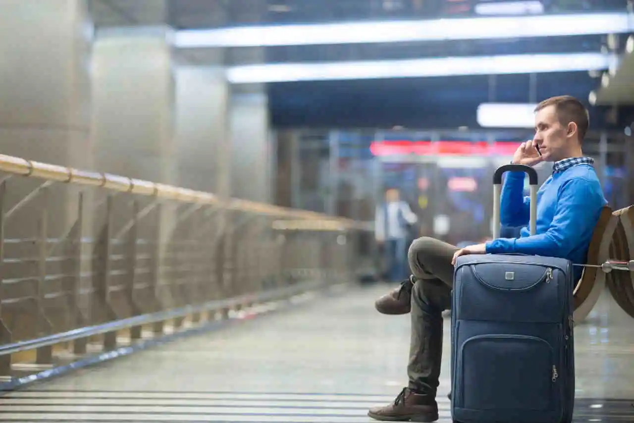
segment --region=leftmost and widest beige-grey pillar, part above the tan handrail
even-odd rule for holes
[[[2,153],[91,167],[92,36],[82,0],[0,1]]]

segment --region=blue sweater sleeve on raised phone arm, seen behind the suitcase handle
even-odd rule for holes
[[[524,197],[524,172],[508,172],[500,195],[500,223],[526,226],[530,219],[530,197]]]

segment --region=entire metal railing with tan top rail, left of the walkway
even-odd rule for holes
[[[16,308],[28,303],[28,313],[34,316],[28,327],[19,328],[16,333],[0,320],[0,356],[3,356],[0,377],[13,375],[13,360],[31,360],[30,355],[18,353],[34,351],[36,367],[55,366],[55,356],[68,348],[79,357],[91,355],[89,345],[101,346],[104,351],[101,356],[110,356],[117,348],[117,332],[122,330],[129,329],[130,344],[136,348],[148,342],[146,330],[152,333],[152,339],[170,337],[172,334],[164,330],[169,320],[173,321],[173,334],[183,334],[206,327],[204,323],[215,321],[219,312],[223,318],[228,318],[232,310],[244,307],[254,306],[255,310],[272,301],[293,303],[297,294],[323,290],[333,283],[351,280],[351,268],[355,263],[351,258],[353,243],[340,242],[340,237],[344,240],[348,236],[354,238],[356,231],[369,229],[366,223],[352,219],[221,198],[212,193],[8,155],[0,155],[0,171],[8,174],[4,178],[0,176],[0,264],[8,266],[3,272],[3,282],[15,289],[21,289],[21,285],[16,285],[20,283],[25,286],[35,282],[36,286],[32,296],[25,297],[18,290],[15,294],[19,297],[0,301]],[[36,178],[43,183],[38,183],[39,187],[30,190],[9,211],[4,211],[6,182],[9,179],[15,181],[17,176]],[[46,193],[50,185],[57,183],[79,185],[79,189],[72,190],[78,191],[75,193],[77,203],[73,204],[77,207],[77,216],[70,222],[68,230],[51,237],[47,225],[51,218],[48,204],[56,197]],[[89,206],[94,209],[94,203],[98,207],[105,204],[105,218],[86,222],[84,192],[93,188],[110,191],[94,198]],[[139,203],[138,197],[134,200],[124,198],[120,203],[124,212],[115,212],[113,197],[126,193],[144,195],[149,202]],[[6,237],[6,218],[13,211],[32,205],[33,199],[39,196],[42,202],[32,213],[35,216],[28,214],[29,219],[36,219],[36,234],[29,233],[15,240]],[[61,198],[62,201],[66,199]],[[164,205],[174,205],[176,210],[165,212]],[[140,220],[151,211],[156,220],[141,223]],[[218,219],[209,219],[216,212],[220,212]],[[121,221],[113,222],[115,216]],[[84,237],[88,224],[95,226],[91,228],[94,232],[91,237]],[[174,233],[163,231],[164,228],[171,231],[172,226]],[[216,230],[213,235],[208,235],[207,231],[212,227]],[[236,233],[243,228],[247,228],[244,233]],[[280,231],[300,233],[281,234]],[[182,237],[188,239],[181,240]],[[335,238],[337,242],[333,242]],[[22,251],[25,242],[29,242],[26,253]],[[179,242],[188,244],[180,245]],[[7,245],[11,246],[8,261],[5,261],[4,247]],[[84,251],[86,246],[90,249]],[[302,246],[316,247],[315,254],[307,259],[297,252],[304,252]],[[254,257],[241,269],[245,258],[242,247],[253,247]],[[65,259],[51,261],[51,258],[58,258],[50,256],[60,248],[65,248]],[[174,248],[183,250],[184,255],[172,252]],[[14,259],[15,254],[27,254],[27,257]],[[32,255],[36,257],[31,258]],[[26,274],[25,268],[29,269]],[[33,268],[37,270],[35,275],[31,275]],[[27,274],[29,278],[23,278]],[[63,288],[49,285],[61,277],[68,282]],[[89,288],[82,285],[86,278],[90,278]],[[49,287],[59,292],[48,292]],[[112,295],[115,292],[117,294]],[[91,308],[93,303],[90,303],[86,310],[85,304],[80,304],[80,296],[86,295],[98,304],[96,308]],[[166,299],[170,295],[172,299]],[[64,332],[51,333],[56,327],[50,316],[60,318],[62,326],[58,330]],[[191,327],[183,325],[184,322],[190,322]],[[13,325],[13,320],[8,324]],[[96,335],[103,339],[94,339]]]

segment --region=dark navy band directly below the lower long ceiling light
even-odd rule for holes
[[[576,96],[590,108],[592,127],[608,126],[604,111],[588,105],[596,79],[588,72],[540,74],[536,98]],[[529,101],[528,75],[497,75],[499,102]],[[482,75],[269,84],[271,119],[280,127],[479,127],[475,111],[489,101]]]

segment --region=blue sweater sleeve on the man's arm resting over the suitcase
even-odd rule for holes
[[[523,238],[498,238],[486,244],[486,252],[517,252],[538,256],[566,257],[581,237],[596,225],[597,192],[583,178],[571,179],[560,188],[555,216],[547,231]]]

